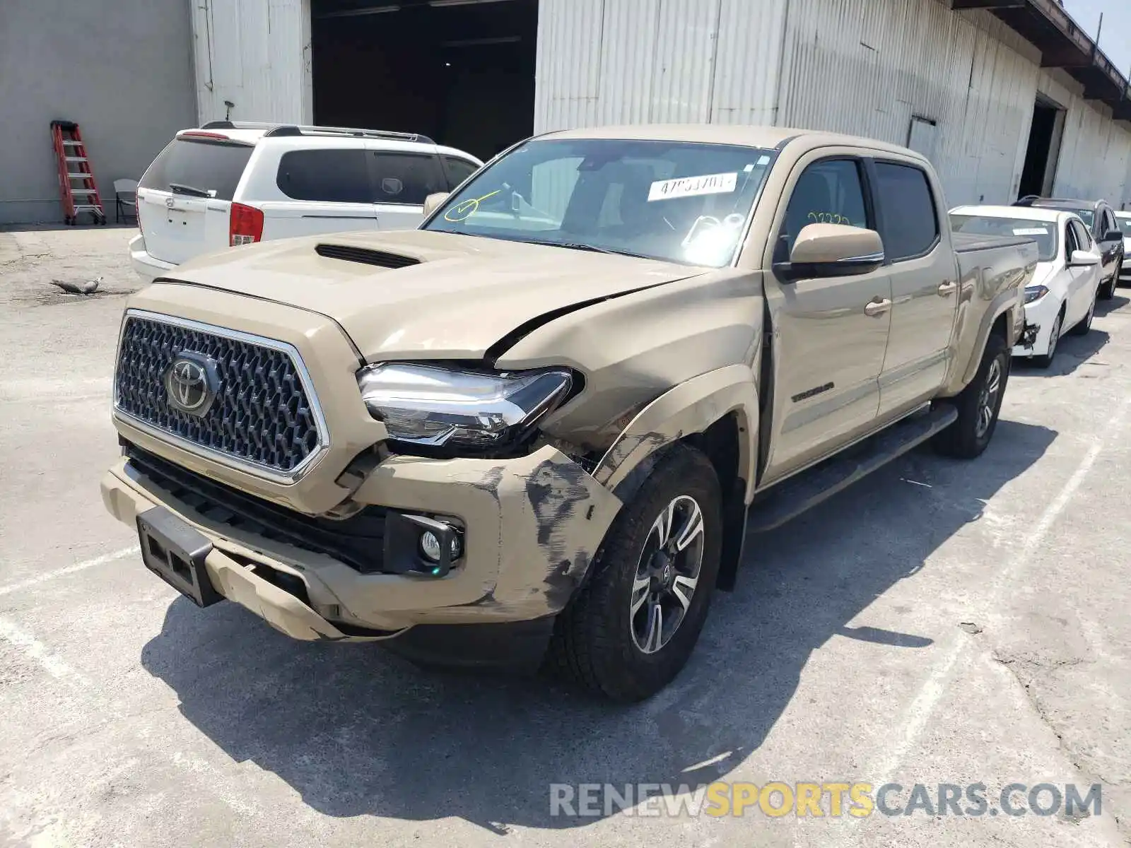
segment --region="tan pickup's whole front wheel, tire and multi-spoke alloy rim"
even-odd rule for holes
[[[676,445],[621,510],[590,579],[559,616],[550,666],[613,701],[666,686],[707,620],[722,534],[714,467]]]

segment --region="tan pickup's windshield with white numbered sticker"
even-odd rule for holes
[[[423,228],[717,268],[734,258],[774,156],[679,141],[527,141]]]

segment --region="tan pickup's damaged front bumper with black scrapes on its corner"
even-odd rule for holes
[[[334,542],[334,519],[283,510],[202,475],[165,474],[159,458],[153,460],[133,453],[106,473],[106,509],[137,526],[139,514],[164,508],[210,543],[204,569],[223,597],[304,640],[380,640],[422,624],[554,615],[584,579],[621,507],[552,447],[508,460],[397,456],[354,493],[352,504],[370,523],[343,546]],[[225,492],[232,497],[224,500]],[[280,510],[290,520],[278,519]],[[387,559],[418,554],[418,538],[405,534],[414,525],[398,522],[402,517],[460,528],[461,550],[447,574],[388,573]],[[343,529],[347,522],[340,520]],[[400,529],[386,537],[394,523]],[[371,561],[360,559],[366,551]]]

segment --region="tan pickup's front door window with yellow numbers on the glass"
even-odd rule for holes
[[[797,234],[809,224],[869,225],[858,162],[823,159],[802,172],[785,211],[780,243],[786,256],[793,250]]]

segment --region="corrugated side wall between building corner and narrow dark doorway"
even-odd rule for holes
[[[793,0],[780,123],[906,145],[912,116],[929,119],[948,200],[1003,201],[1025,163],[1037,61],[996,19],[934,0]]]

